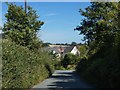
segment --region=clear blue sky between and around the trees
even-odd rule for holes
[[[24,6],[24,3],[18,2],[17,5]],[[84,9],[90,5],[89,2],[28,2],[37,14],[39,20],[45,22],[38,32],[39,38],[43,42],[50,43],[71,43],[82,42],[82,35],[74,28],[80,24],[81,19],[79,9]],[[7,12],[7,6],[2,3],[2,19],[5,21],[4,14]]]

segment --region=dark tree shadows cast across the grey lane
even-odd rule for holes
[[[89,88],[83,80],[80,80],[76,75],[75,71],[61,71],[56,72],[51,78],[56,79],[56,82],[47,85],[48,87],[56,87],[56,88]]]

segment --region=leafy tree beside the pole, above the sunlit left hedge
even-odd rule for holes
[[[28,11],[15,4],[7,4],[8,12],[5,14],[7,22],[4,24],[4,34],[17,44],[31,47],[31,43],[37,40],[37,32],[44,22],[38,20],[36,11],[28,6]]]

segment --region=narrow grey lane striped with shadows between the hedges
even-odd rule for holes
[[[54,74],[33,88],[92,88],[74,70],[56,70]]]

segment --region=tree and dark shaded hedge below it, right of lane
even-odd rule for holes
[[[75,30],[83,34],[89,51],[76,70],[98,88],[120,83],[120,2],[92,2]]]

